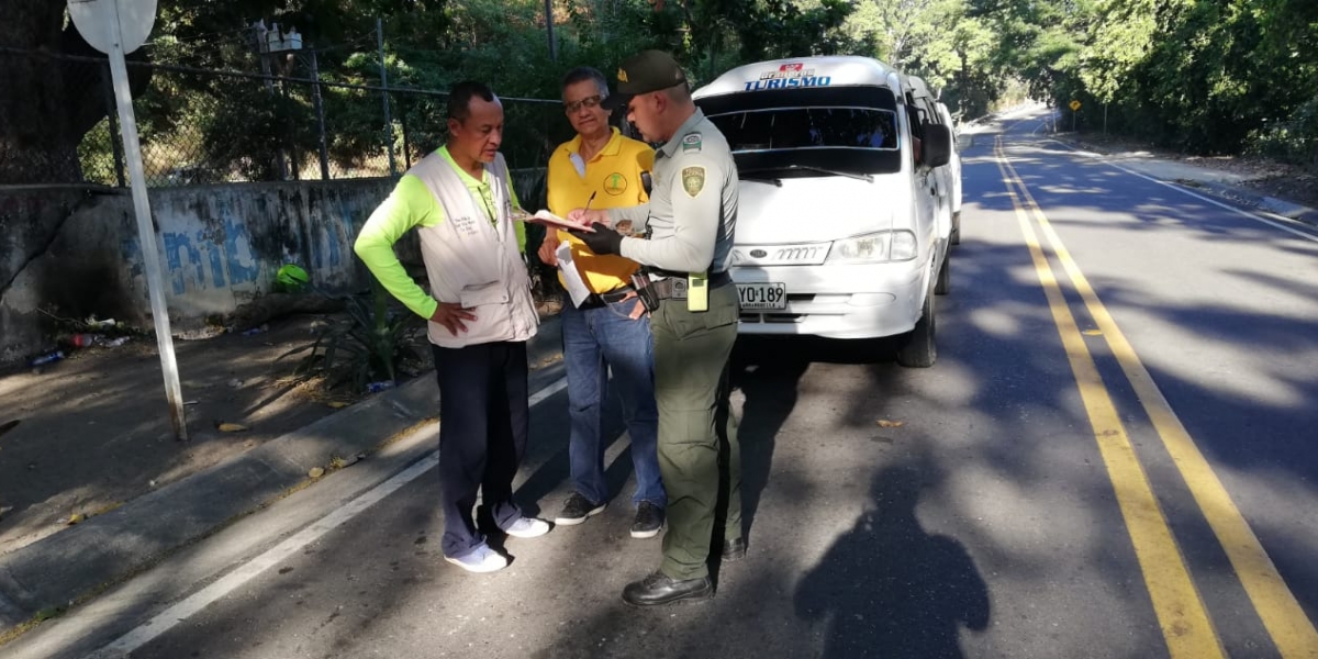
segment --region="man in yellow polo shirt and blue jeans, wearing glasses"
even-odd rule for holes
[[[577,136],[550,157],[548,206],[558,215],[583,207],[637,206],[648,199],[642,174],[654,166],[654,150],[609,125],[609,111],[601,105],[608,95],[609,84],[594,69],[573,69],[563,78],[563,104]],[[580,307],[565,299],[563,308],[563,361],[572,418],[568,453],[575,492],[555,523],[579,525],[608,505],[604,480],[608,444],[601,438],[601,426],[612,370],[637,471],[631,536],[654,538],[663,529],[668,498],[659,477],[650,318],[630,285],[639,266],[619,256],[597,256],[579,239],[552,229],[540,245],[540,260],[558,265],[554,252],[564,240],[571,244],[572,261],[592,295]]]

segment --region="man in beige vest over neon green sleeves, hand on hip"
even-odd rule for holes
[[[526,341],[539,316],[522,252],[525,227],[498,153],[503,105],[489,87],[457,83],[448,96],[448,142],[398,181],[357,236],[355,249],[380,283],[430,319],[439,380],[439,480],[444,560],[494,572],[507,558],[485,543],[472,509],[477,490],[494,523],[536,538],[548,522],[523,517],[513,476],[526,451]],[[403,270],[393,245],[420,236],[431,293]]]

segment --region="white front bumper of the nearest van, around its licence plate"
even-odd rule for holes
[[[925,261],[734,266],[733,281],[782,283],[787,308],[741,312],[741,333],[875,339],[909,332],[924,303]]]

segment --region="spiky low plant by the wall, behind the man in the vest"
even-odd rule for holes
[[[316,293],[327,295],[323,291]],[[415,314],[393,303],[387,291],[372,278],[369,294],[337,295],[347,318],[332,320],[315,341],[279,356],[303,355],[295,374],[324,374],[328,386],[349,382],[361,390],[369,382],[395,382],[405,360],[418,358],[414,337],[424,323]]]

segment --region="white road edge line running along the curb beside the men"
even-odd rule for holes
[[[531,398],[529,399],[529,403],[531,406],[538,405],[544,399],[550,398],[551,395],[561,391],[567,386],[568,386],[567,378],[559,378],[552,384],[547,385],[544,389],[540,389],[539,391],[532,394]],[[409,467],[407,469],[403,469],[393,478],[389,478],[387,481],[376,485],[365,494],[349,501],[343,507],[320,518],[318,522],[314,522],[311,526],[303,529],[302,531],[298,531],[289,539],[281,542],[279,544],[266,551],[265,554],[249,560],[248,563],[244,563],[237,569],[229,572],[228,575],[224,575],[223,577],[220,577],[220,580],[215,581],[214,584],[192,593],[183,601],[156,614],[152,619],[140,625],[137,629],[133,629],[128,634],[119,637],[119,639],[109,643],[108,646],[87,655],[87,659],[119,659],[128,656],[130,652],[138,650],[146,643],[150,643],[157,637],[165,634],[179,622],[183,622],[191,618],[192,616],[196,616],[198,613],[202,612],[202,609],[206,609],[215,601],[232,593],[235,589],[237,589],[243,584],[246,584],[257,575],[278,565],[289,556],[301,552],[302,548],[306,547],[307,544],[319,540],[327,532],[337,529],[344,522],[348,522],[349,519],[357,517],[364,510],[378,503],[385,497],[393,494],[394,492],[398,492],[398,489],[401,489],[403,485],[407,485],[409,482],[416,480],[423,473],[434,469],[438,464],[439,464],[439,452],[436,451],[420,459],[420,461]]]

